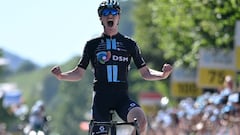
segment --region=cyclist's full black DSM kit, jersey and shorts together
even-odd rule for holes
[[[128,112],[139,105],[128,96],[128,70],[131,59],[139,69],[145,66],[135,41],[120,33],[115,36],[102,34],[88,41],[78,67],[86,69],[89,62],[94,71],[93,119],[109,121],[109,111],[127,121]],[[95,134],[107,133],[106,127],[96,126]]]

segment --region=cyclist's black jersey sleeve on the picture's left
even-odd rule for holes
[[[88,43],[85,44],[85,47],[83,49],[83,55],[78,63],[78,67],[81,67],[83,69],[87,69],[87,66],[90,61],[90,53],[89,53],[89,45]]]

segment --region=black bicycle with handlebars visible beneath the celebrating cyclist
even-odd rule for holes
[[[111,120],[109,122],[99,122],[99,121],[91,120],[89,123],[89,135],[92,135],[92,130],[95,126],[108,127],[108,129],[110,129],[110,132],[108,132],[109,135],[117,135],[117,127],[120,125],[130,125],[134,127],[134,129],[136,130],[136,135],[140,135],[137,118],[134,118],[133,122],[118,122],[116,120],[113,120],[114,113],[115,113],[114,110],[110,111]]]

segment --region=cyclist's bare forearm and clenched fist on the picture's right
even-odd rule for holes
[[[162,71],[157,71],[144,66],[139,69],[141,76],[145,80],[162,80],[166,79],[172,72],[172,66],[170,64],[164,64]]]

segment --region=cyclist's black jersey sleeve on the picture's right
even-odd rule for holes
[[[138,47],[138,45],[135,42],[134,42],[134,48],[133,48],[133,52],[132,52],[132,58],[133,58],[134,64],[136,65],[136,67],[138,69],[146,66],[146,63],[141,55],[140,48]]]

